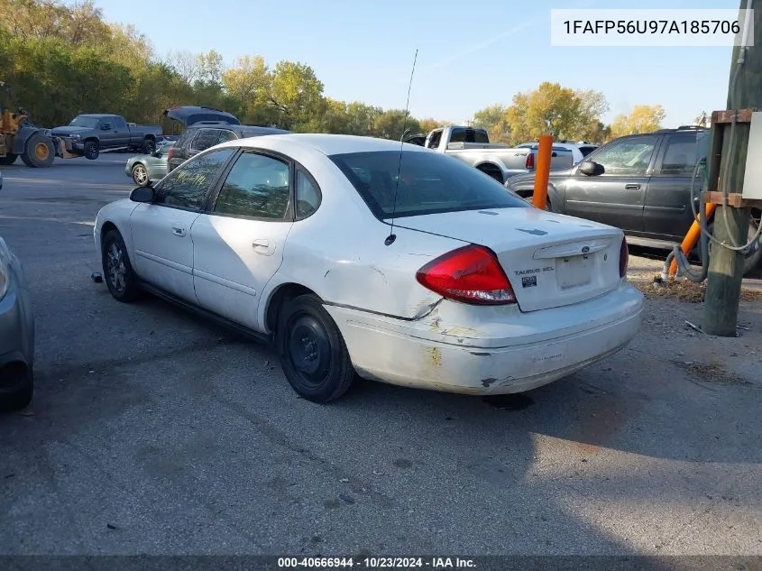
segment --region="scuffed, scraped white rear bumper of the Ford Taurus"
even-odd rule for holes
[[[638,333],[643,305],[642,294],[622,283],[599,298],[564,308],[530,313],[511,308],[502,320],[481,328],[445,323],[441,304],[432,316],[415,322],[326,309],[365,378],[500,394],[529,391],[616,353]]]

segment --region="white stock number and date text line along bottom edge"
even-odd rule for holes
[[[473,559],[461,557],[279,557],[281,569],[475,569]]]

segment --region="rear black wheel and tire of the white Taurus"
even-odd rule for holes
[[[355,372],[344,338],[315,295],[289,299],[280,309],[275,345],[286,379],[308,401],[335,401]]]

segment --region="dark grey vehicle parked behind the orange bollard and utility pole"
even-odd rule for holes
[[[694,189],[691,180],[696,163],[709,152],[709,135],[708,129],[687,126],[614,139],[571,169],[550,172],[548,209],[617,226],[629,244],[671,250],[693,224],[693,207],[698,210],[702,180],[694,181]],[[523,198],[532,195],[534,184],[534,173],[505,182]],[[749,239],[760,214],[752,209]],[[745,272],[752,272],[762,259],[762,237],[745,259]]]

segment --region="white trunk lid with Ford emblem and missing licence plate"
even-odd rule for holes
[[[490,248],[522,311],[579,303],[621,281],[622,233],[588,220],[517,207],[410,216],[395,224]]]

